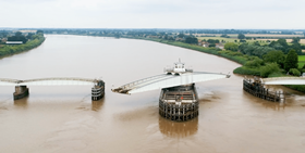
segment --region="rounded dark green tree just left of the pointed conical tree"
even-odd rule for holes
[[[284,68],[285,54],[282,51],[270,51],[263,59],[266,63],[277,63]]]

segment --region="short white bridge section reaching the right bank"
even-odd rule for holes
[[[260,80],[265,85],[305,85],[305,77],[273,77]]]

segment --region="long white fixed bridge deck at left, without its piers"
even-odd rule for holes
[[[38,78],[38,79],[8,79],[0,78],[0,86],[94,86],[97,79],[87,78]]]

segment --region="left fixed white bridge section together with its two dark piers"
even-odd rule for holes
[[[76,78],[76,77],[54,77],[37,79],[10,79],[0,78],[0,86],[15,86],[14,99],[22,99],[28,95],[26,86],[93,86],[91,99],[99,100],[105,94],[105,82],[100,79]]]

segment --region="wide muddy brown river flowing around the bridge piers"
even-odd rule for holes
[[[105,99],[93,102],[90,87],[29,87],[13,100],[0,87],[0,152],[205,152],[304,153],[305,95],[285,103],[242,90],[243,76],[196,84],[199,116],[173,123],[159,116],[159,90],[124,95],[110,89],[163,73],[181,58],[198,72],[231,73],[229,60],[158,42],[49,35],[32,51],[0,60],[1,78],[102,78]]]

